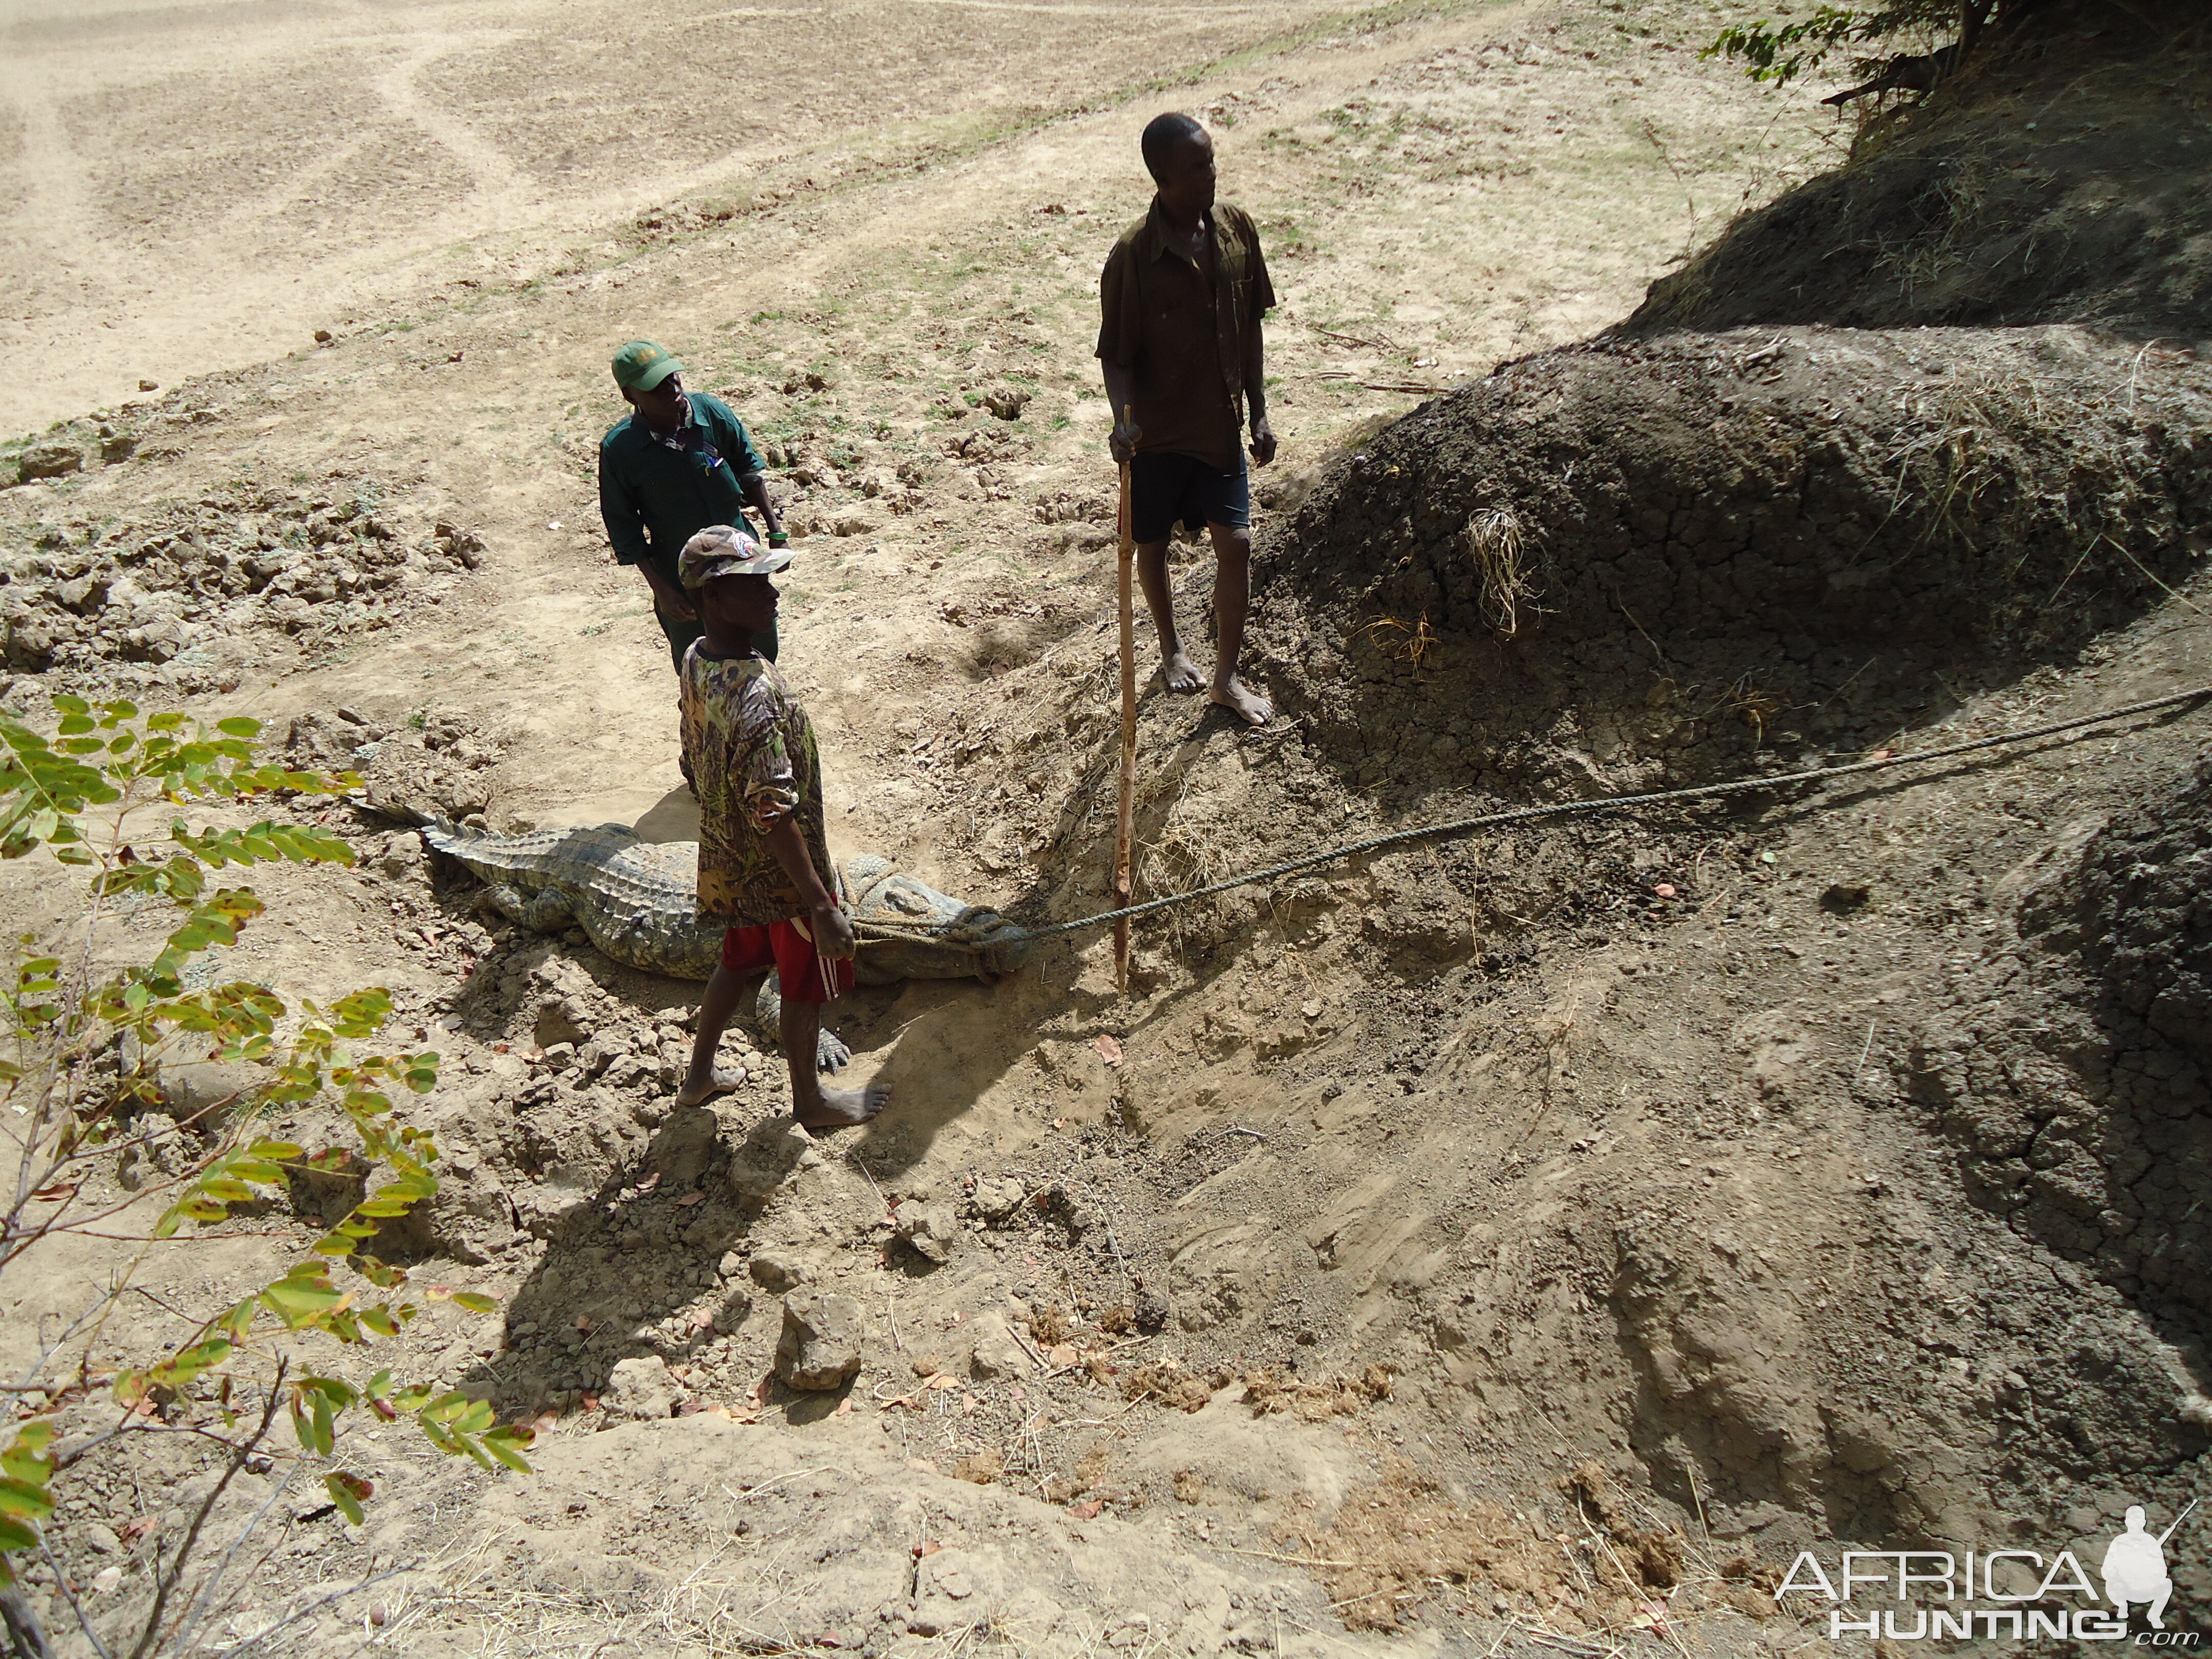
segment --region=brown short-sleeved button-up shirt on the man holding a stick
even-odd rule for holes
[[[1274,285],[1252,215],[1214,204],[1214,285],[1168,243],[1152,210],[1121,232],[1099,276],[1099,358],[1130,372],[1137,449],[1199,456],[1225,473],[1243,467],[1245,330],[1274,307]]]

